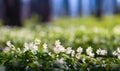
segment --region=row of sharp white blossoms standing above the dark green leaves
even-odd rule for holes
[[[24,48],[23,50],[21,50],[20,48],[16,48],[11,41],[7,41],[6,45],[7,47],[5,47],[3,49],[4,52],[10,52],[12,51],[22,51],[23,53],[30,50],[32,53],[36,53],[39,51],[39,46],[41,41],[39,39],[36,39],[34,42],[31,43],[24,43]],[[82,47],[78,47],[76,50],[73,49],[73,47],[64,47],[63,45],[61,45],[60,40],[55,41],[55,46],[52,48],[48,48],[48,45],[46,43],[42,44],[42,48],[43,48],[43,52],[47,52],[47,53],[51,53],[50,51],[52,50],[55,54],[60,54],[60,53],[64,53],[67,55],[70,55],[72,57],[76,57],[77,59],[81,58],[81,55],[84,54],[83,52],[83,48]],[[50,50],[49,50],[50,49]],[[96,54],[97,55],[102,55],[105,56],[107,55],[107,50],[104,49],[97,49],[96,50]],[[90,46],[86,49],[86,54],[89,57],[94,57],[95,53],[93,52],[93,48]],[[120,47],[118,47],[115,51],[112,52],[113,56],[117,56],[120,59]]]

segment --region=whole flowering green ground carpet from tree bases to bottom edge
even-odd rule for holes
[[[119,16],[35,19],[0,27],[0,69],[6,71],[119,71]]]

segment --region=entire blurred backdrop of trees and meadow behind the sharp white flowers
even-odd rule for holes
[[[112,51],[120,46],[119,18],[120,0],[0,0],[0,48],[38,38]]]

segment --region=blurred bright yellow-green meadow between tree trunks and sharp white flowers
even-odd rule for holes
[[[76,44],[77,46],[87,45],[88,42],[89,45],[93,45],[92,40],[94,37],[108,38],[109,40],[106,39],[106,41],[110,42],[110,40],[113,40],[112,37],[120,34],[119,16],[103,17],[102,20],[98,20],[95,17],[63,17],[47,24],[31,19],[24,23],[22,28],[0,27],[1,47],[8,40],[21,45],[24,42],[33,41],[35,38],[39,38],[48,44],[50,43],[49,45],[52,45],[58,39],[66,46],[76,46]]]

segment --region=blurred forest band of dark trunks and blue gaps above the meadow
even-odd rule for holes
[[[21,26],[21,20],[33,16],[37,16],[40,22],[49,22],[66,16],[100,19],[119,13],[120,0],[0,0],[0,19],[5,25]]]

